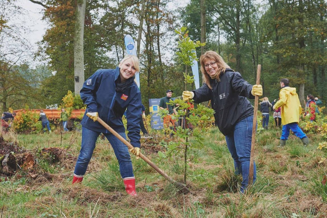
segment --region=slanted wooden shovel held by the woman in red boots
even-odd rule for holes
[[[129,149],[134,148],[126,139],[124,139],[121,135],[119,135],[115,130],[113,130],[108,124],[106,124],[100,117],[97,118],[97,120],[104,128],[108,129],[114,136],[116,136],[120,141],[122,141]],[[169,177],[162,169],[157,167],[152,161],[150,161],[146,156],[144,156],[141,152],[139,155],[140,158],[142,158],[148,165],[150,165],[152,168],[154,168],[157,172],[159,172],[165,179],[167,179],[170,183],[175,185],[176,188],[178,188],[182,193],[187,194],[190,192],[190,190],[182,183],[179,183]]]

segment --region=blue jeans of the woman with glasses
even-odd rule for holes
[[[253,116],[249,116],[235,125],[234,132],[225,136],[228,150],[234,159],[235,174],[242,174],[243,177],[241,192],[244,192],[249,182],[252,126]],[[253,161],[253,183],[256,177]]]

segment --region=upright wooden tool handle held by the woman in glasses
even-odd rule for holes
[[[256,85],[260,84],[261,64],[257,67],[257,81]],[[254,112],[253,112],[253,127],[252,127],[252,140],[251,140],[251,154],[250,154],[250,169],[249,169],[249,185],[253,182],[253,161],[254,161],[254,144],[255,144],[255,130],[257,127],[257,114],[258,114],[258,101],[259,96],[254,96]]]

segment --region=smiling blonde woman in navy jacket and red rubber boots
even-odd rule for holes
[[[83,103],[87,105],[82,125],[82,144],[74,170],[73,184],[81,182],[95,149],[95,142],[102,133],[110,142],[119,163],[126,192],[136,195],[135,177],[129,151],[139,158],[140,153],[140,119],[141,92],[134,82],[135,73],[139,71],[139,59],[126,55],[116,69],[100,69],[89,77],[80,91]],[[133,149],[121,142],[116,136],[95,122],[99,116],[112,129],[126,139],[122,121],[126,111],[127,130]]]

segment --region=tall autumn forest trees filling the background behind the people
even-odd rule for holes
[[[26,0],[27,1],[27,0]],[[31,1],[31,0],[30,0]],[[12,22],[25,13],[14,0],[0,0],[0,108],[45,108],[60,104],[74,91],[74,31],[81,1],[32,1],[43,6],[48,27],[38,51],[31,52],[24,23]],[[136,40],[142,24],[140,81],[142,102],[181,95],[185,71],[176,56],[174,30],[186,26],[192,40],[206,42],[198,57],[215,50],[228,65],[255,83],[262,65],[263,96],[278,98],[280,79],[289,78],[304,107],[312,94],[327,101],[327,4],[323,0],[191,0],[168,7],[169,0],[89,0],[84,19],[85,79],[97,69],[113,69],[127,54],[124,36]],[[142,5],[145,7],[142,8]],[[141,19],[144,10],[143,23]],[[191,69],[187,69],[189,71]],[[201,76],[200,76],[200,84]],[[195,89],[194,84],[187,87]],[[148,112],[148,111],[147,111]]]

